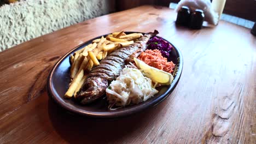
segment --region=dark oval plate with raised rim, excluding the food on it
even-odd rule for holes
[[[134,32],[126,32],[126,33],[129,34]],[[103,36],[106,37],[106,35],[103,35]],[[94,39],[98,39],[100,37],[97,37]],[[159,93],[157,93],[153,98],[147,101],[144,101],[141,104],[126,106],[117,110],[108,110],[108,103],[106,98],[100,98],[94,103],[89,105],[80,105],[74,99],[64,99],[63,95],[66,93],[68,89],[68,85],[70,83],[69,71],[70,71],[71,65],[69,64],[69,56],[75,51],[82,49],[84,46],[90,44],[94,39],[91,39],[85,42],[84,44],[79,45],[78,47],[75,47],[75,49],[69,51],[54,65],[54,68],[51,70],[49,74],[48,82],[47,82],[49,96],[53,98],[53,100],[56,101],[57,104],[59,104],[61,107],[63,107],[67,111],[72,113],[77,113],[79,115],[83,115],[87,117],[93,117],[93,118],[123,117],[123,116],[131,115],[132,113],[136,113],[144,109],[147,109],[147,107],[149,106],[155,106],[159,104],[162,100],[168,97],[168,95],[170,95],[173,89],[176,87],[179,81],[179,77],[181,77],[181,73],[182,73],[183,58],[181,55],[181,51],[179,51],[174,45],[168,42],[173,46],[173,49],[170,53],[171,61],[174,64],[176,64],[176,67],[173,71],[174,79],[170,86],[159,87],[158,88]]]

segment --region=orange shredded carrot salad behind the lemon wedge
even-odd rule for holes
[[[159,50],[146,50],[139,55],[138,59],[147,63],[151,67],[164,70],[168,73],[172,73],[175,64],[173,62],[167,62],[167,58],[161,55]]]

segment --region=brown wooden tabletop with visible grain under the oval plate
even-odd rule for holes
[[[1,52],[0,143],[255,143],[256,37],[224,21],[196,31],[175,20],[171,9],[143,6]],[[49,100],[49,71],[75,46],[115,31],[154,29],[184,58],[181,80],[162,103],[98,121],[70,115]]]

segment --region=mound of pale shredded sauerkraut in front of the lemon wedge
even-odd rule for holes
[[[140,70],[125,67],[117,80],[110,83],[106,93],[109,105],[112,107],[141,103],[154,97],[158,90]]]

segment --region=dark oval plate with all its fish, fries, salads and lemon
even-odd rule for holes
[[[183,58],[157,34],[114,32],[75,47],[50,71],[49,96],[68,112],[93,118],[123,117],[159,104],[176,87]]]

